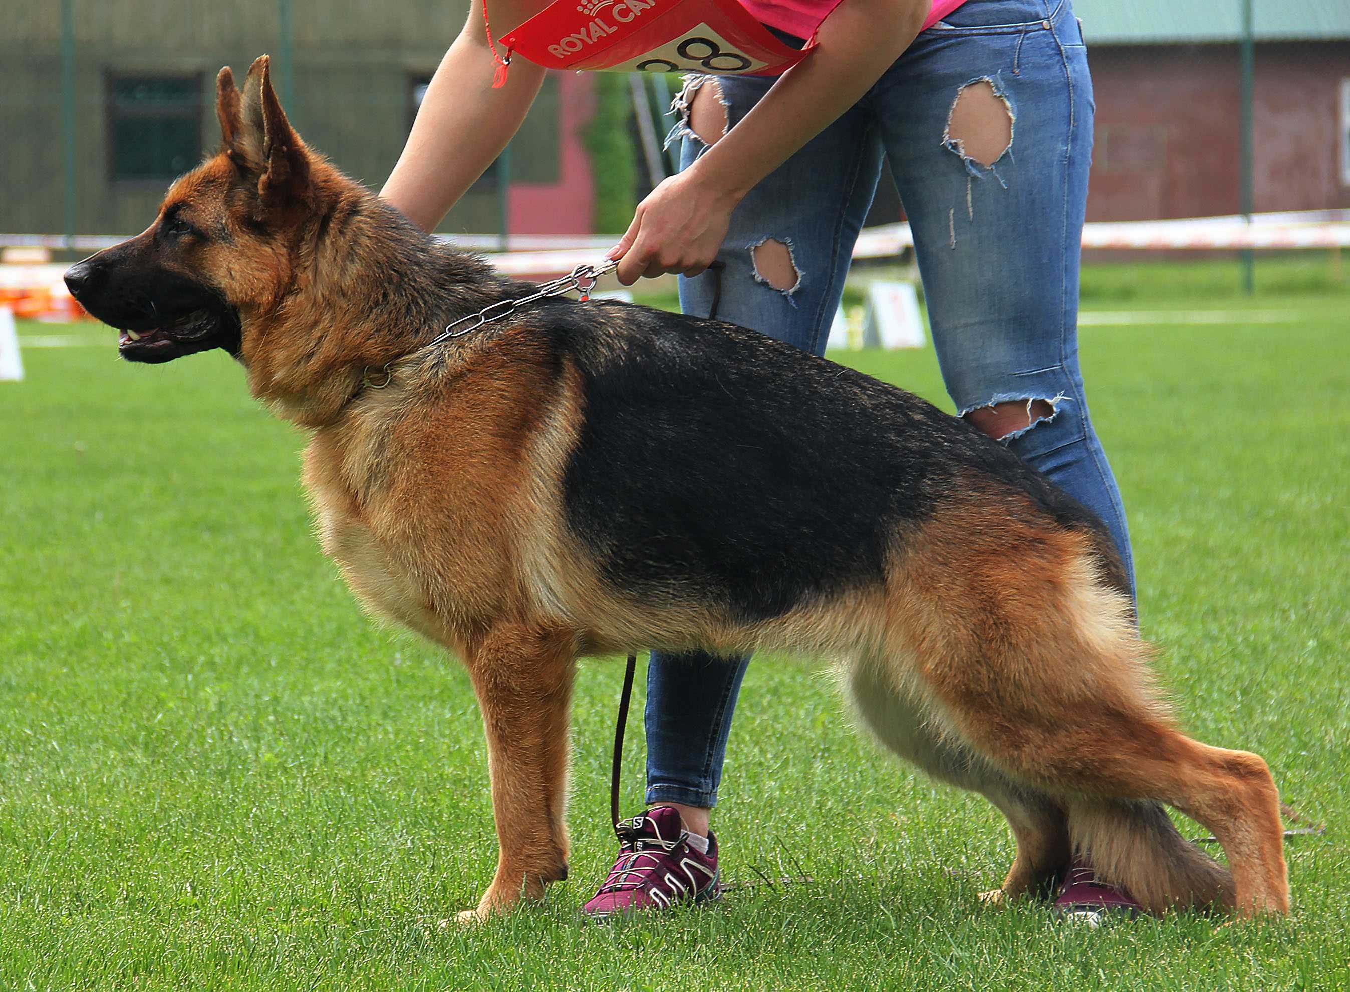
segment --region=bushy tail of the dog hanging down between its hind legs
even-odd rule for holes
[[[1228,869],[1181,837],[1154,802],[1073,803],[1069,839],[1102,881],[1129,891],[1150,912],[1234,903]]]

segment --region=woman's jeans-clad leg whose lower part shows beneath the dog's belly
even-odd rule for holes
[[[676,101],[682,167],[744,117],[771,84],[756,77],[687,80]],[[718,254],[724,270],[682,278],[680,308],[709,316],[720,282],[718,320],[821,354],[880,163],[869,115],[853,108],[741,201]],[[699,833],[717,802],[748,661],[653,652],[647,669],[647,802],[676,804]]]

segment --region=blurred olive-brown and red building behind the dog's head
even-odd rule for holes
[[[230,65],[242,82],[262,53],[305,140],[378,188],[466,11],[467,0],[5,3],[0,189],[23,193],[0,198],[0,232],[142,229],[169,180],[220,140],[216,72]],[[512,231],[591,228],[593,92],[590,76],[544,85],[512,147]],[[498,178],[490,169],[444,229],[495,231]]]

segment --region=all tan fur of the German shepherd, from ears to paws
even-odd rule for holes
[[[250,389],[312,432],[305,487],[323,548],[355,595],[468,667],[500,839],[478,916],[566,876],[575,659],[630,645],[834,659],[886,746],[1008,817],[1018,857],[1002,898],[1035,889],[1077,845],[1157,911],[1212,900],[1247,914],[1288,908],[1269,771],[1176,730],[1099,536],[973,486],[977,497],[950,497],[891,534],[883,582],[774,619],[742,624],[614,588],[563,505],[586,418],[579,373],[549,364],[528,316],[490,337],[421,348],[427,327],[373,304],[392,293],[367,277],[379,266],[366,194],[294,135],[265,59],[242,94],[227,73],[227,146],[166,200],[220,238],[176,265],[212,274],[243,324]],[[247,197],[232,178],[240,162],[256,175]],[[275,233],[297,200],[308,220],[297,213],[294,229]],[[271,211],[266,231],[250,223],[254,209]],[[316,238],[316,223],[343,236]],[[360,389],[386,363],[389,387]],[[1179,846],[1145,799],[1214,830],[1231,881]]]

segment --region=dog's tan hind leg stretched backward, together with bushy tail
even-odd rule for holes
[[[1226,881],[1181,852],[1161,811],[1122,800],[1169,803],[1207,826],[1228,857],[1238,911],[1285,912],[1270,771],[1257,754],[1176,730],[1149,686],[1129,601],[1099,580],[1076,534],[1049,530],[996,559],[952,557],[960,611],[929,598],[911,636],[926,641],[922,678],[961,740],[1014,780],[1060,796],[1099,873],[1148,910],[1222,900]]]

